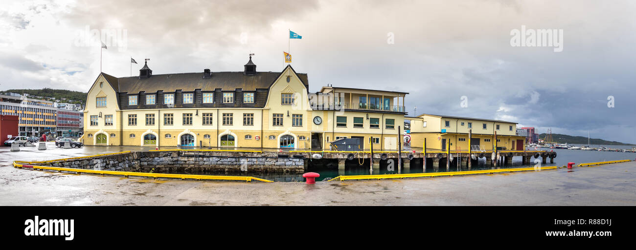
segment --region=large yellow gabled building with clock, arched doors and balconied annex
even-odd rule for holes
[[[333,87],[308,93],[308,86],[307,74],[289,65],[257,72],[251,56],[239,72],[153,75],[148,63],[134,77],[102,72],[88,91],[81,139],[86,145],[322,149],[360,136],[364,148],[370,141],[378,150],[397,148],[406,93]],[[338,109],[333,99],[318,107],[317,96],[329,93],[344,96]]]

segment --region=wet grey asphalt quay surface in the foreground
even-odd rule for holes
[[[251,183],[154,180],[17,169],[12,161],[148,150],[0,147],[1,206],[635,206],[636,162],[401,180]]]

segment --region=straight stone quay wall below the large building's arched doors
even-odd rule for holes
[[[138,152],[141,171],[154,173],[302,173],[305,159],[272,152]]]

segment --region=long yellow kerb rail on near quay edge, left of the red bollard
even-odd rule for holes
[[[265,180],[261,178],[256,178],[252,176],[219,176],[219,175],[204,175],[204,174],[162,174],[162,173],[141,173],[141,172],[128,172],[128,171],[111,171],[111,170],[93,170],[93,169],[78,169],[78,168],[59,168],[59,167],[50,167],[50,166],[34,166],[27,164],[19,164],[18,162],[13,162],[13,167],[15,168],[31,168],[31,169],[39,169],[39,170],[54,170],[54,171],[66,171],[66,172],[74,172],[74,173],[91,173],[91,174],[111,174],[111,175],[123,175],[128,178],[128,176],[142,176],[142,177],[152,177],[152,178],[177,178],[181,180],[185,179],[193,179],[193,180],[235,180],[235,181],[263,181],[263,182],[273,182],[270,180]]]

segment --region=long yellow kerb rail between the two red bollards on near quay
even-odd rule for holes
[[[548,170],[556,169],[557,166],[548,166],[541,168],[504,168],[504,169],[487,169],[487,170],[474,170],[474,171],[457,171],[457,172],[440,172],[440,173],[416,173],[416,174],[368,174],[368,175],[341,175],[333,180],[372,180],[372,179],[392,179],[392,178],[414,178],[414,177],[433,177],[433,176],[453,176],[464,174],[487,174],[487,173],[501,173],[501,172],[516,172],[516,171],[534,171],[534,170]]]

